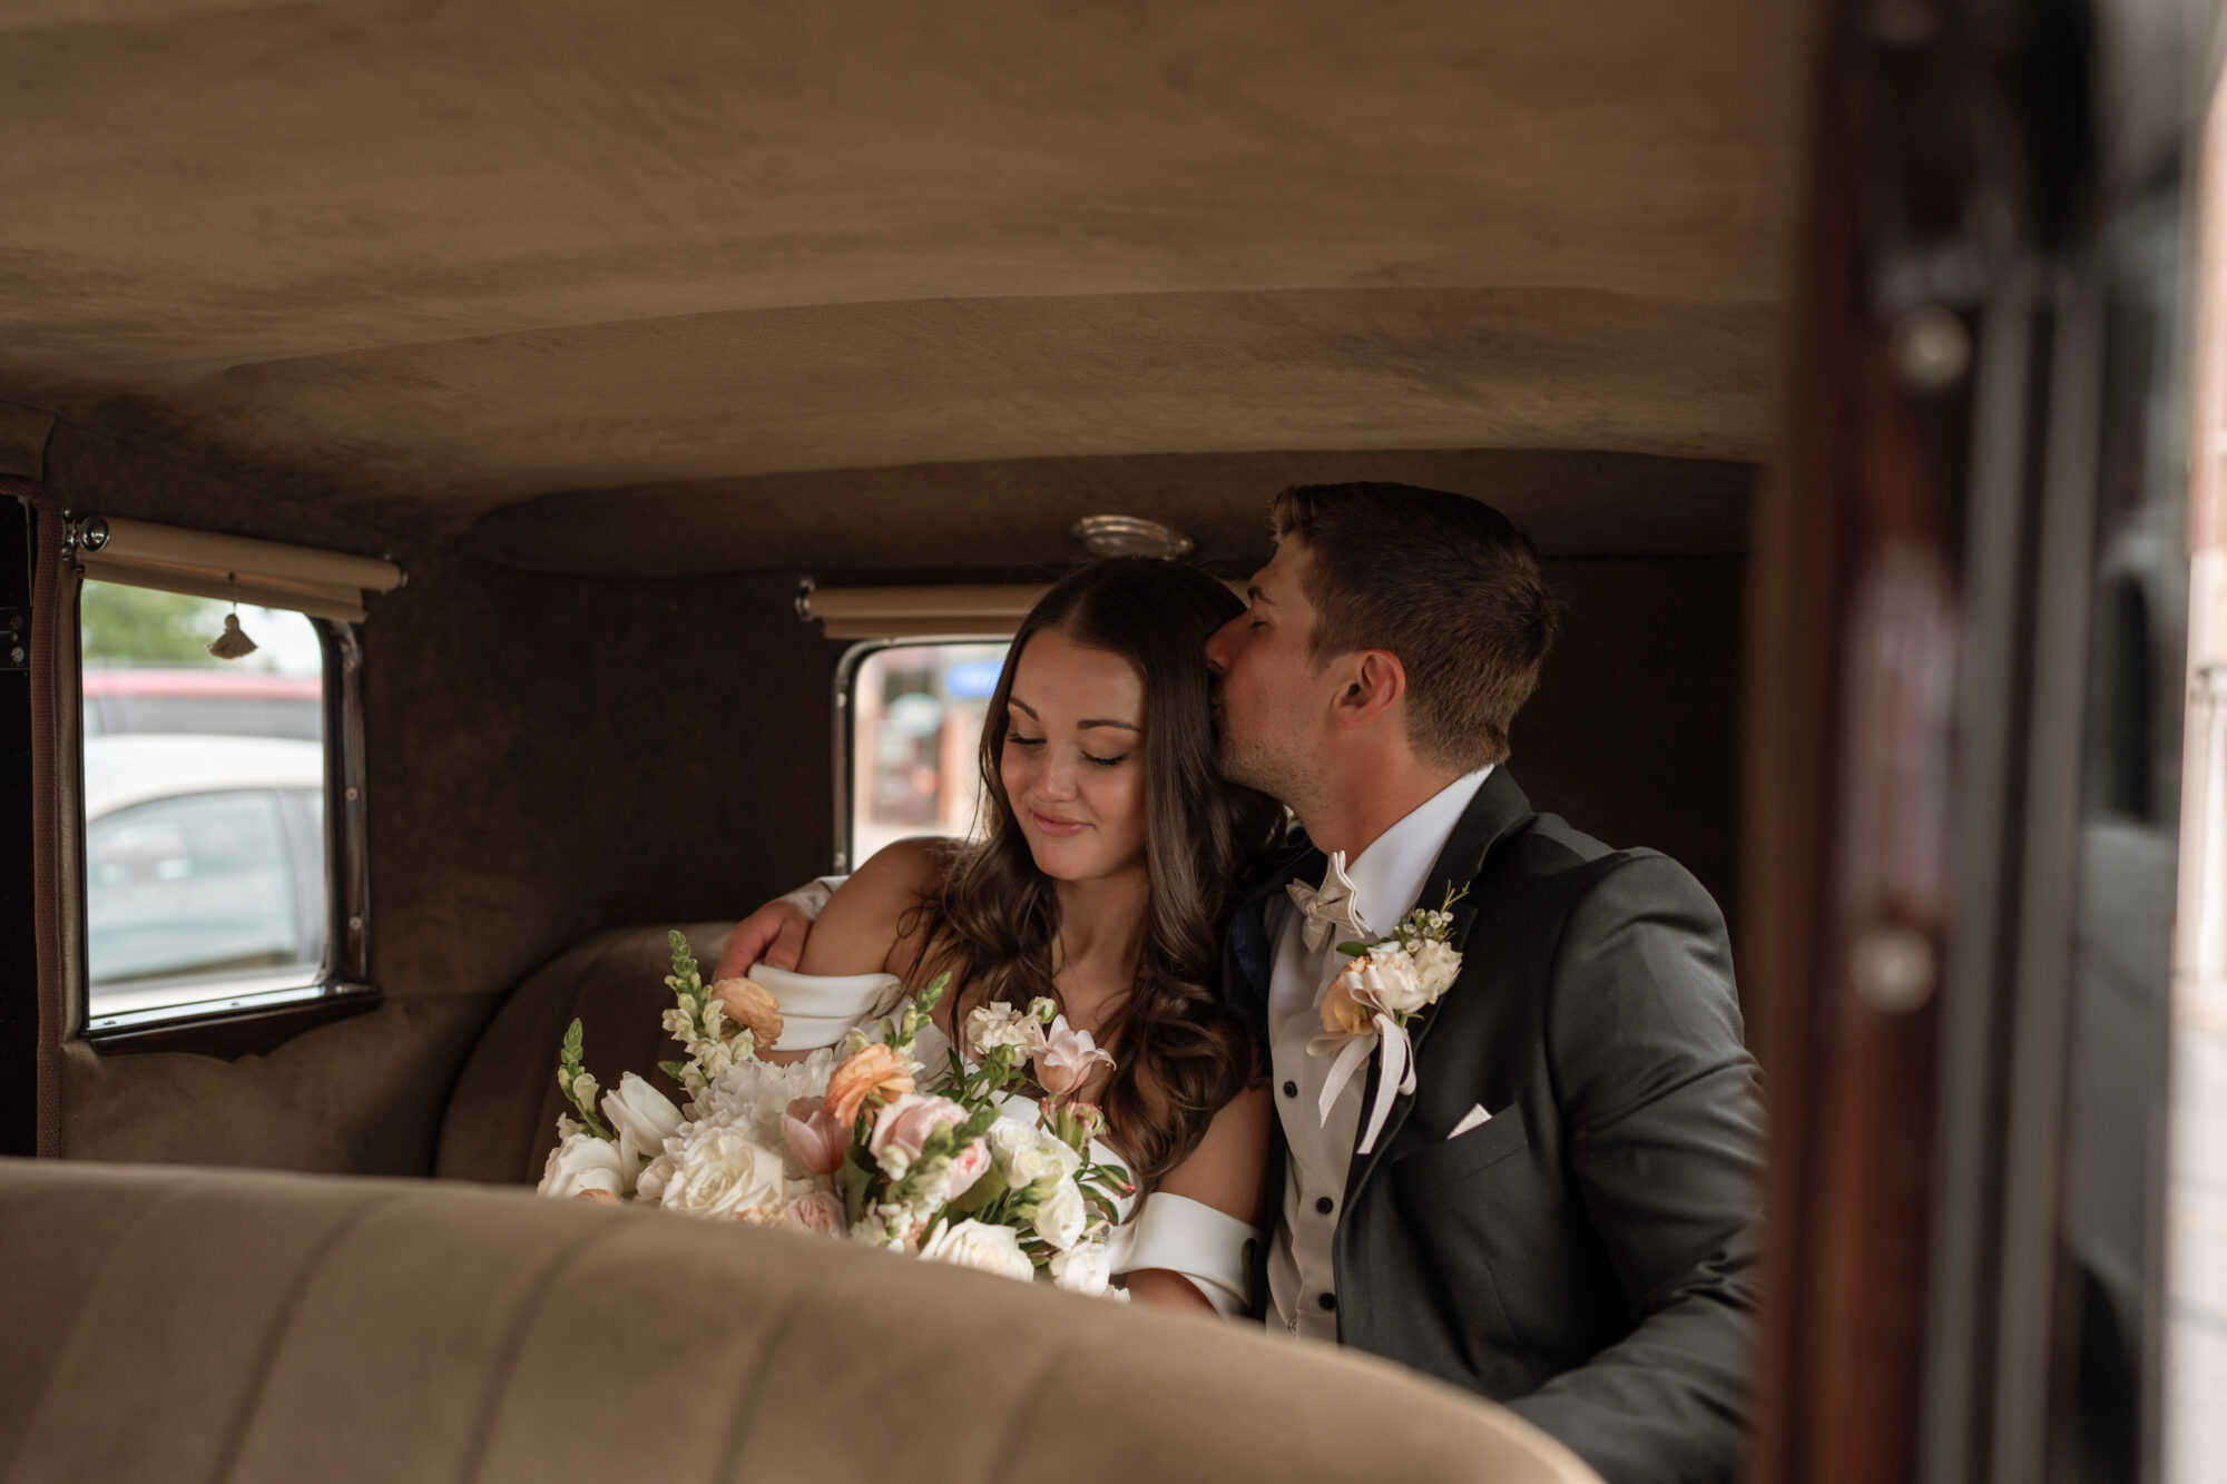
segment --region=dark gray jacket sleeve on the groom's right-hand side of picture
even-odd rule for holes
[[[1510,1406],[1610,1484],[1730,1480],[1755,1379],[1762,1074],[1708,891],[1652,851],[1595,869],[1554,954],[1546,1052],[1637,1328]]]

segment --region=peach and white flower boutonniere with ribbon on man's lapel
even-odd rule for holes
[[[1436,909],[1416,907],[1390,938],[1374,943],[1341,943],[1345,967],[1323,992],[1323,1032],[1307,1043],[1309,1056],[1336,1056],[1323,1078],[1321,1114],[1345,1092],[1345,1083],[1367,1063],[1370,1052],[1383,1052],[1376,1076],[1376,1105],[1361,1134],[1358,1154],[1376,1148],[1376,1134],[1392,1116],[1392,1099],[1414,1092],[1414,1045],[1407,1023],[1439,1003],[1461,976],[1461,954],[1448,943],[1454,936],[1454,902],[1468,887],[1448,887]]]

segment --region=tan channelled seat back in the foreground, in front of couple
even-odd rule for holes
[[[0,1161],[0,1480],[1592,1480],[1325,1346],[521,1190]]]

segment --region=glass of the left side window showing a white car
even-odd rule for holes
[[[254,651],[209,644],[236,617]],[[312,985],[325,963],[325,648],[274,608],[87,582],[89,1014]]]

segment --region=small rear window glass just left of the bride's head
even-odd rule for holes
[[[904,836],[971,836],[982,715],[1007,644],[895,644],[851,682],[848,865]]]

